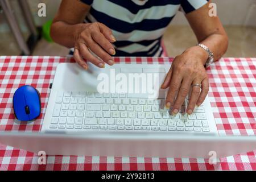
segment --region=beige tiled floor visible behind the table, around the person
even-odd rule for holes
[[[229,36],[229,48],[224,57],[256,57],[256,27],[225,27]],[[2,34],[2,33],[1,33]],[[9,34],[1,36],[0,55],[19,55],[19,50]],[[168,55],[174,57],[196,42],[188,26],[170,26],[163,37]],[[9,45],[9,46],[6,46]],[[68,49],[55,43],[40,40],[33,55],[65,56]]]

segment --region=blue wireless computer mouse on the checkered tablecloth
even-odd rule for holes
[[[40,94],[32,86],[24,85],[13,96],[13,109],[19,121],[32,121],[41,113]]]

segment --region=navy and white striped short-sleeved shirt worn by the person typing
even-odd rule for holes
[[[190,13],[209,0],[80,0],[90,5],[85,23],[101,22],[113,31],[115,56],[159,57],[161,39],[177,11]]]

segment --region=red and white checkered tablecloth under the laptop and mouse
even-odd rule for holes
[[[57,64],[74,61],[65,57],[0,56],[0,130],[40,131],[46,110],[49,84]],[[126,57],[115,62],[161,64],[168,58]],[[224,58],[208,69],[209,98],[220,135],[256,134],[256,59]],[[37,88],[42,115],[35,122],[14,122],[12,98],[22,85]],[[111,156],[47,156],[39,165],[38,156],[0,144],[0,170],[256,170],[256,151],[229,156],[211,165],[208,159],[126,158]]]

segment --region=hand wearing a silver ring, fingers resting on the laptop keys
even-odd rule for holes
[[[194,86],[192,86],[187,114],[192,114],[195,106],[200,106],[204,102],[209,91],[208,76],[204,68],[207,58],[208,53],[199,46],[195,46],[176,56],[172,62],[161,88],[169,87],[166,107],[167,109],[172,107],[173,115],[176,115],[181,109],[192,85]],[[201,88],[195,84],[201,85]]]

